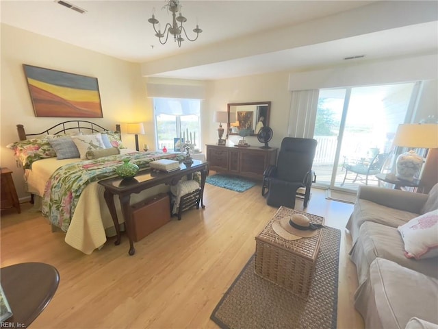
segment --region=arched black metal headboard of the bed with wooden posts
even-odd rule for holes
[[[23,125],[16,125],[16,130],[18,132],[18,138],[20,138],[20,141],[24,141],[25,139],[31,137],[31,136],[42,136],[42,135],[57,135],[57,134],[64,134],[65,132],[68,132],[68,130],[75,130],[78,132],[86,131],[86,132],[105,132],[110,129],[104,128],[101,125],[97,125],[96,123],[93,123],[91,121],[83,121],[83,120],[70,120],[70,121],[64,121],[61,123],[58,123],[57,125],[54,125],[53,127],[50,127],[47,130],[44,130],[43,132],[38,132],[36,134],[26,134],[25,127]],[[120,125],[116,125],[116,132],[120,133]]]

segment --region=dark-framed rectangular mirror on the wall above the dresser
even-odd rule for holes
[[[228,104],[229,135],[239,135],[247,130],[248,136],[257,136],[262,127],[269,127],[270,101]]]

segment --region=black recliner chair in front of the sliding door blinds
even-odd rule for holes
[[[294,208],[298,194],[304,198],[304,208],[307,207],[311,185],[316,181],[311,169],[317,144],[312,138],[283,138],[276,166],[271,164],[263,173],[261,195],[268,194],[268,205]],[[300,187],[305,187],[305,193],[297,193]]]

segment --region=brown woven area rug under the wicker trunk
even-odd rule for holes
[[[323,230],[307,301],[257,276],[253,255],[210,318],[223,329],[335,329],[341,231]]]

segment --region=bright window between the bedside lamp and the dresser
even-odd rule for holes
[[[192,143],[200,145],[200,99],[154,98],[153,105],[157,149],[166,146],[174,151],[174,138],[192,139]]]

